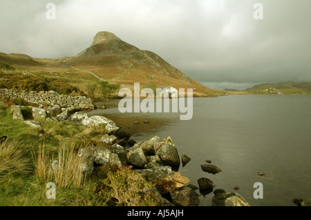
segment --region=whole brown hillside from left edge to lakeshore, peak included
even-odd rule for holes
[[[0,66],[6,74],[13,70],[16,74],[64,81],[85,94],[88,85],[102,79],[120,83],[123,88],[133,88],[134,83],[140,83],[141,88],[147,83],[157,87],[194,88],[196,97],[226,94],[190,79],[157,54],[140,50],[111,32],[98,32],[91,46],[74,57],[37,59],[25,54],[0,53]]]

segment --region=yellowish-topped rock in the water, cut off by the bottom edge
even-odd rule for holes
[[[211,206],[249,206],[249,203],[236,192],[220,192],[214,195]]]

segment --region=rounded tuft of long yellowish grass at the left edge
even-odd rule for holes
[[[0,144],[0,176],[26,174],[31,170],[31,162],[26,157],[28,150],[18,140],[7,140]]]

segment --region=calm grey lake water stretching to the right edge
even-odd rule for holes
[[[90,115],[112,119],[135,141],[171,137],[180,157],[191,158],[178,172],[196,186],[206,177],[216,188],[238,192],[251,206],[296,206],[292,199],[311,200],[310,108],[311,96],[235,95],[194,99],[190,121],[180,121],[179,113],[121,114],[117,108]],[[207,159],[223,172],[203,172],[200,164]],[[253,197],[256,182],[263,183],[263,199]],[[210,206],[213,196],[201,195],[200,206]]]

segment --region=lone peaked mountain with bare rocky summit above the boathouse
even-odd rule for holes
[[[151,82],[156,86],[209,90],[171,66],[158,54],[140,50],[111,32],[98,32],[91,46],[75,57],[66,59],[64,64],[82,69],[91,68],[99,77],[124,85]]]

